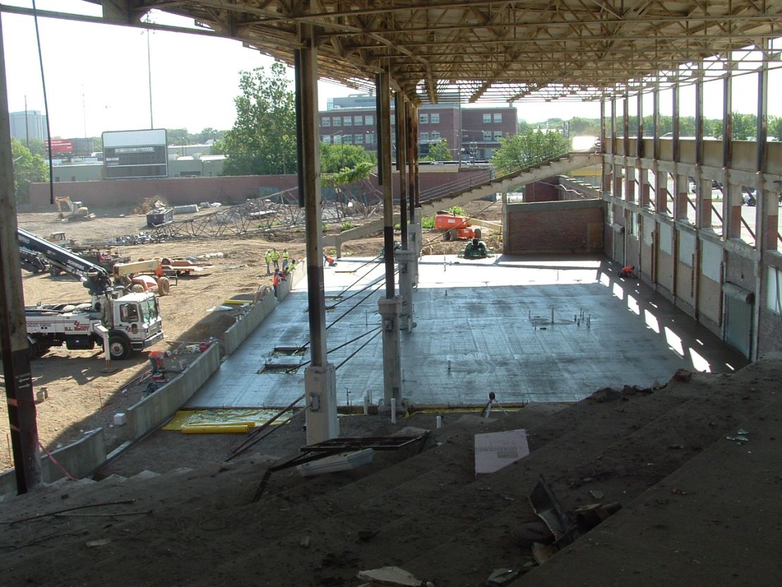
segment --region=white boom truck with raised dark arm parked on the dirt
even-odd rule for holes
[[[91,349],[95,344],[103,346],[108,338],[109,356],[117,360],[163,339],[163,319],[155,294],[124,294],[123,288],[112,285],[106,268],[24,229],[18,229],[18,236],[20,247],[40,253],[78,275],[91,296],[91,301],[84,304],[24,308],[31,357],[63,344],[69,350]]]

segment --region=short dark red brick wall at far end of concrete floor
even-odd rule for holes
[[[587,254],[603,251],[603,202],[508,204],[504,253]]]

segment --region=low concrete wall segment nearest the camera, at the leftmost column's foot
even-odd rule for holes
[[[106,437],[103,429],[92,430],[84,438],[58,448],[52,456],[72,477],[87,477],[106,462]],[[41,453],[41,480],[52,483],[65,477],[63,470]],[[13,469],[0,474],[0,495],[16,493],[16,472]]]

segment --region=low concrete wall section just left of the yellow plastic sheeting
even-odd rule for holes
[[[212,373],[217,371],[219,366],[220,345],[212,344],[175,380],[131,406],[126,413],[127,439],[141,438],[149,430],[168,420],[210,378]]]

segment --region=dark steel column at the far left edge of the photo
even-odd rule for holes
[[[41,483],[41,464],[38,460],[38,423],[30,375],[19,242],[16,240],[16,194],[13,189],[13,153],[3,53],[0,16],[0,355],[16,491],[26,493]]]

